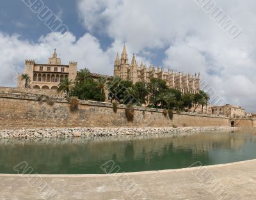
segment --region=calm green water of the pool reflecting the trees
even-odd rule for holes
[[[102,174],[114,160],[121,172],[152,171],[225,164],[256,158],[256,134],[198,133],[176,137],[2,139],[0,173],[26,161],[38,174]]]

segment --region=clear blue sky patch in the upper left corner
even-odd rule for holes
[[[61,20],[69,27],[77,37],[81,37],[86,29],[81,26],[81,20],[76,15],[76,1],[44,1],[57,15],[60,13]],[[21,0],[1,2],[0,29],[6,33],[18,33],[22,38],[37,42],[42,35],[51,33],[51,30],[40,21],[36,14],[31,12]]]

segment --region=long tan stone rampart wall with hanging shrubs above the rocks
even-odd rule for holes
[[[38,95],[0,92],[0,128],[230,126],[228,118],[182,112],[174,113],[171,120],[161,110],[141,107],[136,107],[134,121],[129,123],[124,105],[115,113],[111,104],[80,101],[78,110],[71,112],[67,100],[52,100],[54,105],[39,101]]]

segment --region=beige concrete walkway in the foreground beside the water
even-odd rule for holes
[[[256,199],[255,166],[248,160],[110,176],[0,174],[0,199]]]

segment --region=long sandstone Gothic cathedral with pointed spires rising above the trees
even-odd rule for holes
[[[155,68],[155,66],[150,65],[147,68],[143,62],[139,66],[136,62],[135,54],[133,54],[131,64],[129,64],[125,45],[121,58],[119,53],[116,54],[114,75],[132,82],[149,82],[152,78],[163,79],[168,87],[179,89],[182,93],[186,91],[198,93],[200,90],[200,73],[198,75],[190,75],[190,73],[173,72],[170,68],[168,72],[164,72],[163,68],[159,66]]]

